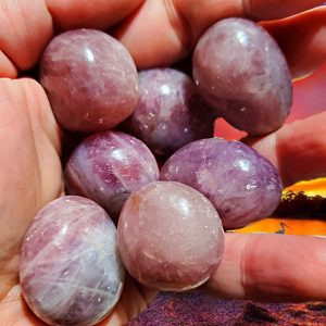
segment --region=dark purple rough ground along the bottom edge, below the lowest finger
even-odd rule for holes
[[[259,303],[162,292],[128,326],[326,325],[326,302]]]

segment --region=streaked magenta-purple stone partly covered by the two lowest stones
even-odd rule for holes
[[[158,163],[148,147],[120,131],[86,138],[72,153],[64,172],[67,193],[92,199],[115,220],[131,191],[159,177]]]

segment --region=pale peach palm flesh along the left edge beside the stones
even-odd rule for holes
[[[9,318],[1,325],[14,325],[23,317],[16,286],[22,238],[36,212],[62,191],[61,135],[36,82],[1,79],[0,98],[0,315]]]

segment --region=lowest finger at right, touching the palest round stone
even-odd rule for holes
[[[224,258],[205,289],[224,298],[326,300],[326,239],[227,234]]]

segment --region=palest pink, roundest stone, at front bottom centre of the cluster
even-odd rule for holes
[[[152,183],[131,193],[117,225],[128,272],[159,290],[203,284],[221,262],[224,233],[214,206],[197,190]]]

